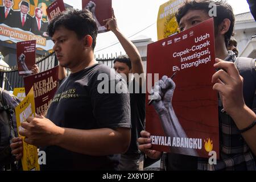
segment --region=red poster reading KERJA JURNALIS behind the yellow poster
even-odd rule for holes
[[[57,90],[58,66],[45,72],[24,77],[26,95],[34,86],[36,114],[45,115]]]

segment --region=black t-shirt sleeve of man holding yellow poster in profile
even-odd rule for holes
[[[111,80],[111,79],[110,79]],[[115,84],[119,81],[114,79]],[[94,77],[91,89],[93,115],[98,127],[131,127],[129,93],[99,93],[97,88],[101,80]],[[110,86],[110,81],[109,81]]]

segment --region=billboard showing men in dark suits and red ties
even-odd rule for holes
[[[52,49],[46,14],[50,4],[50,0],[0,1],[0,40],[7,43],[36,40],[36,48]]]

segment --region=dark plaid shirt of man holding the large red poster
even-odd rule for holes
[[[236,60],[236,56],[231,51],[228,56],[230,60]],[[218,117],[220,126],[220,160],[217,164],[210,165],[206,158],[197,159],[197,170],[216,171],[216,170],[238,170],[256,171],[256,159],[240,134],[236,123],[226,113],[222,112],[222,104],[219,100]],[[162,155],[160,170],[168,169],[167,153]]]

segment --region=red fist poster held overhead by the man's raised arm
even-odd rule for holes
[[[99,33],[109,31],[103,20],[112,18],[112,0],[82,0],[82,9],[92,12]]]

